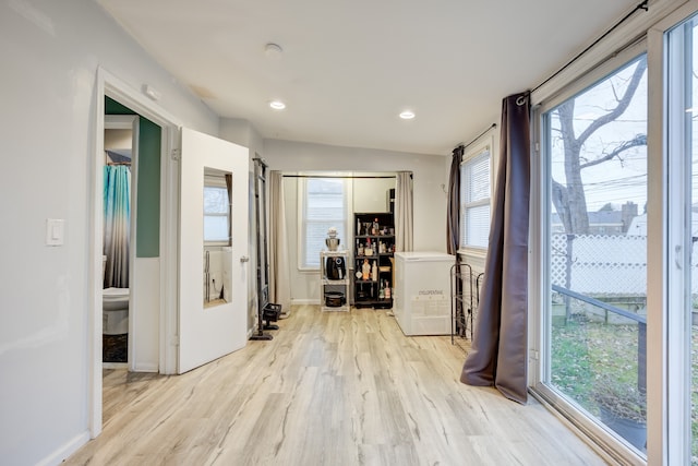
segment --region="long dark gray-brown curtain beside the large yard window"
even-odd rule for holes
[[[528,229],[530,192],[529,95],[504,99],[500,164],[472,350],[460,381],[494,385],[526,403]]]

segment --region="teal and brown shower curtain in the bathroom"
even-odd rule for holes
[[[131,168],[105,166],[104,254],[105,288],[129,287],[129,243],[131,231]]]

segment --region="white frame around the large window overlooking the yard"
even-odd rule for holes
[[[648,60],[648,284],[647,284],[647,321],[648,321],[648,354],[647,354],[647,403],[648,403],[648,444],[647,464],[689,464],[690,463],[690,432],[686,432],[684,421],[687,410],[682,405],[685,403],[687,384],[685,375],[681,373],[685,361],[678,361],[673,355],[685,350],[684,336],[686,330],[674,319],[670,319],[670,297],[676,297],[683,292],[682,278],[672,276],[676,265],[676,248],[681,248],[678,240],[684,231],[679,228],[685,225],[682,215],[671,205],[683,205],[684,200],[676,199],[672,191],[677,187],[672,178],[677,174],[670,174],[672,164],[667,154],[672,143],[666,134],[667,129],[667,45],[665,33],[675,25],[682,23],[698,12],[698,1],[687,2],[681,0],[660,0],[651,4],[648,12],[636,14],[622,27],[613,31],[597,46],[575,60],[552,79],[538,86],[531,94],[531,103],[535,109],[532,117],[533,158],[531,170],[531,260],[529,261],[529,385],[531,393],[543,401],[549,407],[562,413],[564,418],[569,415],[564,407],[558,406],[555,399],[546,396],[539,390],[541,378],[540,366],[544,347],[544,332],[542,322],[542,302],[545,301],[545,290],[549,284],[542,278],[541,264],[545,262],[545,254],[541,247],[541,239],[547,237],[542,210],[550,205],[550,199],[544,189],[545,164],[540,152],[541,126],[540,115],[546,109],[541,105],[547,105],[546,99],[559,100],[571,94],[570,83],[575,87],[583,81],[589,81],[590,75],[597,73],[603,58],[622,50],[627,44],[628,37],[638,37],[647,32],[647,60]],[[624,53],[624,51],[621,51]],[[603,72],[600,72],[603,74]],[[555,103],[551,106],[556,105]],[[675,204],[678,203],[678,204]],[[670,228],[670,225],[673,226]],[[673,306],[673,304],[672,304]],[[689,415],[689,413],[688,413]],[[602,454],[613,451],[603,440],[600,440],[598,430],[587,425],[578,428],[590,435],[603,449]],[[615,449],[617,453],[617,449]],[[617,457],[617,456],[616,456]],[[625,455],[624,464],[643,464],[641,458]]]

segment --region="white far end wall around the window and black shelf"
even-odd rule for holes
[[[269,168],[280,171],[412,171],[414,195],[414,250],[446,251],[446,183],[444,157],[369,148],[339,147],[323,144],[265,140],[264,158]],[[382,190],[381,190],[382,191]],[[291,270],[298,271],[294,259],[297,248],[298,189],[292,181],[285,181],[286,202],[289,205],[287,222]],[[377,196],[383,198],[383,193]],[[369,202],[376,201],[376,195]],[[360,198],[361,202],[365,201]],[[382,201],[384,202],[384,201]],[[342,239],[344,241],[344,239]],[[294,302],[315,302],[320,299],[318,277],[315,272],[293,273],[291,299]]]

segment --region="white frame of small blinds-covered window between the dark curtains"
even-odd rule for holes
[[[466,180],[462,177],[462,169],[465,166],[472,164],[473,162],[478,160],[480,157],[488,157],[489,162],[490,162],[490,172],[489,175],[489,181],[490,181],[490,193],[488,195],[488,198],[474,201],[474,202],[470,202],[470,203],[466,203],[464,201],[464,191],[467,189],[466,186]],[[490,206],[490,222],[488,223],[488,235],[486,237],[489,238],[490,236],[490,224],[491,224],[491,218],[492,218],[492,191],[494,189],[494,164],[495,164],[495,156],[494,156],[494,135],[490,134],[486,138],[483,138],[483,140],[479,143],[479,144],[473,144],[470,148],[468,148],[468,151],[464,154],[462,159],[460,162],[460,171],[461,171],[461,177],[460,177],[460,187],[459,187],[459,199],[460,199],[460,238],[458,239],[458,243],[459,243],[459,248],[458,248],[458,252],[460,254],[466,254],[466,255],[470,255],[470,256],[479,256],[481,259],[484,259],[488,252],[488,247],[486,246],[474,246],[474,244],[466,244],[465,243],[465,239],[466,239],[466,231],[467,231],[467,225],[466,225],[466,218],[467,218],[467,211],[468,208],[472,208],[472,207],[480,207],[483,205],[489,205]]]

